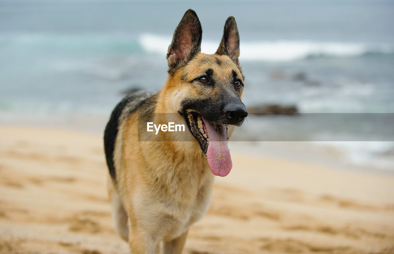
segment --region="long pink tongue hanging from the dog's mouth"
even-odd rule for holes
[[[216,125],[204,118],[203,121],[209,138],[206,160],[214,175],[225,177],[232,168],[226,125]]]

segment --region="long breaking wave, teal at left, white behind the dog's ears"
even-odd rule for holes
[[[165,55],[171,37],[144,33],[100,35],[9,34],[0,35],[0,50],[57,50],[60,52],[119,52]],[[201,51],[216,52],[218,41],[203,40]],[[394,56],[394,44],[318,42],[297,40],[241,40],[241,61],[286,62],[313,57]]]

